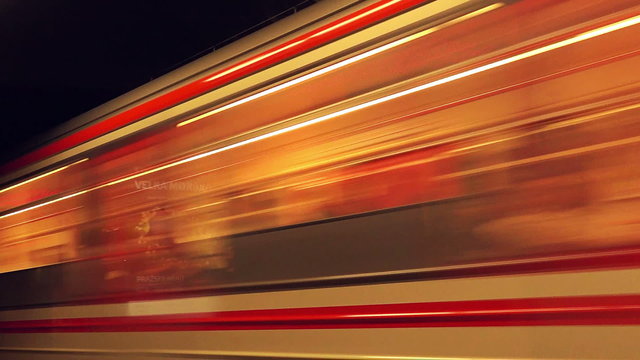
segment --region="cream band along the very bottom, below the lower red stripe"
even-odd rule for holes
[[[401,329],[3,334],[0,348],[262,356],[268,359],[638,359],[640,326],[492,326]],[[0,356],[4,355],[0,353]],[[15,359],[19,353],[3,359]],[[31,356],[33,355],[33,356]],[[21,359],[36,360],[36,353]],[[90,359],[51,356],[43,359]],[[175,359],[177,356],[170,357]],[[100,358],[100,357],[98,357]],[[104,358],[104,357],[103,357]],[[132,357],[134,358],[134,357]],[[141,357],[137,357],[137,360]]]

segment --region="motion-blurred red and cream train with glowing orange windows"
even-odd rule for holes
[[[640,358],[636,0],[321,1],[0,179],[2,359]]]

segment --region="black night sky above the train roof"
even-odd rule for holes
[[[313,2],[0,0],[0,163],[72,117]]]

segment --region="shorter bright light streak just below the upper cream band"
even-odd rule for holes
[[[458,17],[458,18],[455,18],[453,20],[447,21],[444,24],[440,24],[440,25],[434,26],[432,28],[420,31],[418,33],[415,33],[415,34],[409,35],[407,37],[398,39],[396,41],[390,42],[388,44],[382,45],[382,46],[377,47],[375,49],[371,49],[371,50],[366,51],[366,52],[364,52],[362,54],[356,55],[354,57],[351,57],[351,58],[348,58],[348,59],[345,59],[345,60],[342,60],[342,61],[339,61],[339,62],[337,62],[337,63],[335,63],[333,65],[330,65],[330,66],[327,66],[325,68],[310,72],[310,73],[308,73],[306,75],[303,75],[301,77],[289,80],[289,81],[284,82],[284,83],[282,83],[280,85],[277,85],[277,86],[274,86],[272,88],[257,92],[257,93],[255,93],[253,95],[247,96],[245,98],[233,101],[233,102],[231,102],[229,104],[226,104],[224,106],[215,108],[215,109],[213,109],[211,111],[207,111],[207,112],[205,112],[203,114],[197,115],[197,116],[195,116],[195,117],[193,117],[191,119],[188,119],[188,120],[185,120],[185,121],[182,121],[182,122],[178,123],[178,125],[176,125],[176,127],[181,127],[181,126],[184,126],[184,125],[188,125],[188,124],[194,123],[194,122],[196,122],[198,120],[202,120],[202,119],[204,119],[206,117],[209,117],[211,115],[220,113],[220,112],[225,111],[225,110],[229,110],[229,109],[234,108],[234,107],[236,107],[238,105],[246,104],[246,103],[248,103],[250,101],[257,100],[257,99],[259,99],[261,97],[264,97],[264,96],[267,96],[269,94],[273,94],[275,92],[284,90],[284,89],[289,88],[291,86],[294,86],[294,85],[300,84],[302,82],[311,80],[313,78],[316,78],[318,76],[324,75],[324,74],[329,73],[331,71],[343,68],[343,67],[345,67],[347,65],[353,64],[353,63],[358,62],[360,60],[364,60],[364,59],[366,59],[368,57],[371,57],[373,55],[380,54],[380,53],[385,52],[387,50],[390,50],[390,49],[393,49],[393,48],[398,47],[400,45],[403,45],[403,44],[406,44],[408,42],[411,42],[413,40],[419,39],[419,38],[424,37],[424,36],[426,36],[428,34],[434,33],[434,32],[436,32],[438,30],[441,30],[441,29],[444,29],[444,28],[449,27],[451,25],[457,24],[457,23],[459,23],[461,21],[467,20],[467,19],[472,18],[474,16],[478,16],[478,15],[486,13],[488,11],[497,9],[497,8],[501,7],[502,5],[503,5],[502,3],[496,3],[496,4],[492,4],[492,5],[486,6],[486,7],[482,8],[482,9],[476,10],[474,12],[465,14],[465,15],[463,15],[461,17]]]

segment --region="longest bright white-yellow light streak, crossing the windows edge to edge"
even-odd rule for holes
[[[282,128],[282,129],[278,129],[278,130],[275,130],[275,131],[272,131],[272,132],[269,132],[269,133],[266,133],[266,134],[258,135],[258,136],[255,136],[255,137],[252,137],[252,138],[249,138],[249,139],[246,139],[246,140],[242,140],[242,141],[230,144],[230,145],[226,145],[226,146],[223,146],[223,147],[220,147],[220,148],[217,148],[217,149],[213,149],[213,150],[210,150],[210,151],[207,151],[207,152],[204,152],[204,153],[200,153],[200,154],[197,154],[197,155],[192,155],[192,156],[189,156],[187,158],[184,158],[184,159],[172,162],[172,163],[168,163],[168,164],[165,164],[165,165],[162,165],[162,166],[158,166],[158,167],[149,169],[147,171],[131,174],[131,175],[125,176],[123,178],[116,179],[116,180],[113,180],[113,181],[110,181],[110,182],[107,182],[107,183],[104,183],[104,184],[101,184],[101,185],[97,185],[97,186],[94,186],[94,187],[91,187],[91,188],[88,188],[88,189],[85,189],[85,190],[82,190],[82,191],[79,191],[79,192],[76,192],[76,193],[72,193],[72,194],[57,198],[57,199],[52,199],[52,200],[49,200],[49,201],[41,203],[41,204],[33,205],[33,206],[30,206],[30,207],[27,207],[27,208],[24,208],[24,209],[20,209],[20,210],[8,213],[8,214],[4,214],[4,215],[0,216],[0,219],[4,219],[4,218],[9,217],[9,216],[21,214],[21,213],[24,213],[26,211],[37,209],[37,208],[40,208],[40,207],[43,207],[43,206],[46,206],[46,205],[54,204],[54,203],[57,203],[59,201],[70,199],[70,198],[73,198],[73,197],[76,197],[76,196],[79,196],[79,195],[82,195],[82,194],[86,194],[86,193],[91,192],[91,191],[103,189],[103,188],[106,188],[108,186],[120,184],[120,183],[123,183],[125,181],[137,179],[137,178],[139,178],[141,176],[144,176],[144,175],[153,174],[153,173],[156,173],[158,171],[166,170],[166,169],[169,169],[169,168],[172,168],[172,167],[175,167],[175,166],[178,166],[178,165],[182,165],[182,164],[185,164],[185,163],[188,163],[188,162],[191,162],[191,161],[195,161],[195,160],[199,160],[199,159],[202,159],[202,158],[206,158],[206,157],[209,157],[211,155],[215,155],[215,154],[227,151],[227,150],[235,149],[235,148],[238,148],[238,147],[241,147],[241,146],[244,146],[244,145],[249,145],[249,144],[261,141],[261,140],[269,139],[269,138],[272,138],[274,136],[285,134],[285,133],[288,133],[288,132],[291,132],[291,131],[294,131],[294,130],[298,130],[298,129],[301,129],[301,128],[304,128],[304,127],[307,127],[307,126],[310,126],[310,125],[318,124],[318,123],[321,123],[321,122],[324,122],[324,121],[327,121],[327,120],[330,120],[330,119],[334,119],[334,118],[340,117],[342,115],[350,114],[352,112],[355,112],[355,111],[358,111],[358,110],[362,110],[362,109],[366,109],[366,108],[372,107],[374,105],[378,105],[378,104],[381,104],[381,103],[384,103],[384,102],[387,102],[387,101],[391,101],[391,100],[395,100],[395,99],[398,99],[398,98],[401,98],[401,97],[404,97],[404,96],[407,96],[407,95],[411,95],[411,94],[414,94],[414,93],[417,93],[417,92],[420,92],[420,91],[423,91],[423,90],[426,90],[426,89],[430,89],[430,88],[436,87],[438,85],[447,84],[447,83],[453,82],[455,80],[466,78],[466,77],[469,77],[469,76],[472,76],[472,75],[475,75],[475,74],[478,74],[478,73],[482,73],[482,72],[485,72],[485,71],[488,71],[488,70],[491,70],[491,69],[495,69],[495,68],[498,68],[498,67],[501,67],[501,66],[504,66],[504,65],[508,65],[508,64],[511,64],[511,63],[514,63],[514,62],[517,62],[517,61],[520,61],[520,60],[524,60],[524,59],[527,59],[527,58],[530,58],[530,57],[533,57],[533,56],[536,56],[536,55],[540,55],[540,54],[545,53],[545,52],[549,52],[549,51],[552,51],[552,50],[555,50],[555,49],[559,49],[559,48],[566,47],[566,46],[569,46],[569,45],[572,45],[572,44],[575,44],[575,43],[579,43],[579,42],[582,42],[582,41],[585,41],[585,40],[589,40],[589,39],[592,39],[592,38],[595,38],[595,37],[598,37],[598,36],[601,36],[601,35],[604,35],[604,34],[611,33],[613,31],[617,31],[617,30],[624,29],[624,28],[627,28],[627,27],[630,27],[630,26],[633,26],[633,25],[637,25],[639,23],[640,23],[640,15],[636,15],[636,16],[627,18],[625,20],[621,20],[621,21],[615,22],[613,24],[609,24],[609,25],[606,25],[606,26],[603,26],[603,27],[600,27],[600,28],[597,28],[597,29],[594,29],[594,30],[590,30],[590,31],[587,31],[587,32],[584,32],[584,33],[581,33],[581,34],[578,34],[578,35],[575,35],[575,36],[572,36],[572,37],[570,37],[568,39],[565,39],[565,40],[562,40],[562,41],[559,41],[559,42],[555,42],[553,44],[549,44],[549,45],[546,45],[546,46],[542,46],[540,48],[536,48],[536,49],[533,49],[533,50],[525,51],[524,53],[513,55],[513,56],[507,57],[505,59],[498,60],[498,61],[486,64],[486,65],[482,65],[482,66],[479,66],[479,67],[476,67],[476,68],[472,68],[472,69],[469,69],[469,70],[466,70],[466,71],[463,71],[463,72],[460,72],[460,73],[457,73],[457,74],[449,75],[449,76],[446,76],[444,78],[428,82],[426,84],[422,84],[422,85],[419,85],[419,86],[416,86],[416,87],[413,87],[413,88],[410,88],[410,89],[406,89],[406,90],[403,90],[403,91],[400,91],[400,92],[397,92],[397,93],[386,95],[386,96],[383,96],[383,97],[378,98],[378,99],[370,100],[370,101],[367,101],[367,102],[364,102],[364,103],[361,103],[361,104],[358,104],[358,105],[355,105],[355,106],[352,106],[352,107],[349,107],[349,108],[346,108],[346,109],[342,109],[342,110],[339,110],[339,111],[336,111],[336,112],[333,112],[333,113],[330,113],[330,114],[327,114],[327,115],[323,115],[323,116],[320,116],[320,117],[317,117],[317,118],[314,118],[314,119],[303,121],[303,122],[298,123],[298,124],[290,125],[288,127]]]

